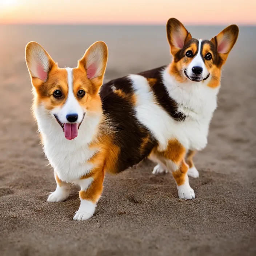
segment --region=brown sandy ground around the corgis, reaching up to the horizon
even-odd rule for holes
[[[191,30],[209,37],[219,28]],[[190,178],[196,198],[180,200],[171,174],[152,175],[146,160],[107,175],[94,216],[77,222],[77,188],[46,202],[55,180],[30,111],[25,44],[36,40],[60,66],[74,66],[105,40],[108,81],[167,64],[164,27],[0,26],[0,254],[256,255],[255,32],[240,29],[225,65],[208,146],[195,157],[200,177]]]

